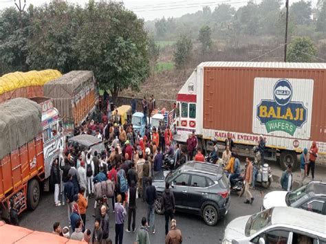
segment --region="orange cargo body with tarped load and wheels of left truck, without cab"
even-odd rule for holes
[[[27,98],[0,104],[0,213],[9,219],[10,201],[19,213],[39,204],[44,174],[41,106]]]

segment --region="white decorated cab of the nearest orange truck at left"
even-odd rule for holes
[[[37,102],[42,108],[43,155],[45,179],[47,179],[51,175],[52,163],[55,159],[59,159],[64,148],[62,123],[52,98],[34,97],[30,100]]]

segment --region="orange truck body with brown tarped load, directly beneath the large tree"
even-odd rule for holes
[[[71,133],[74,126],[80,126],[95,109],[98,94],[94,74],[92,71],[70,71],[47,82],[44,85],[44,96],[53,98],[64,129]]]

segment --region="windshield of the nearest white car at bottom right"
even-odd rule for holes
[[[246,236],[252,236],[262,230],[263,228],[271,225],[272,223],[272,212],[273,209],[270,208],[258,214],[252,215],[246,224],[245,234]]]

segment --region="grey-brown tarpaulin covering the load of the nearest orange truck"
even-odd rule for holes
[[[0,104],[0,159],[41,132],[41,106],[28,98]]]

